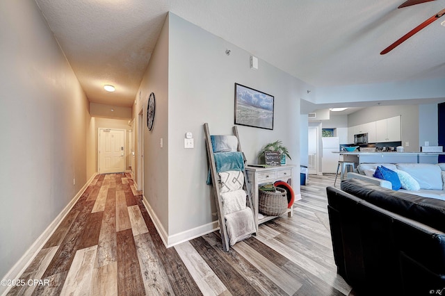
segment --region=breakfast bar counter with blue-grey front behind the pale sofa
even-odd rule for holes
[[[437,163],[437,156],[445,152],[360,152],[336,151],[343,161],[353,163]]]

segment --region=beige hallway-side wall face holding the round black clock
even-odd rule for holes
[[[136,98],[136,106],[133,108],[133,116],[138,126],[138,114],[143,112],[143,161],[144,180],[143,194],[151,207],[151,214],[155,215],[154,222],[158,223],[161,235],[165,237],[168,233],[168,198],[169,198],[169,176],[168,176],[168,149],[170,147],[168,132],[168,75],[169,75],[169,22],[168,16],[156,42],[156,46],[147,67],[147,71],[140,83],[141,99]],[[154,92],[156,108],[154,114],[153,129],[147,129],[147,101],[149,94]],[[163,139],[163,147],[160,145]],[[138,142],[138,133],[136,133]],[[136,149],[140,157],[140,151]],[[149,209],[150,210],[150,209]]]

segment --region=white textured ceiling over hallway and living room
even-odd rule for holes
[[[445,77],[445,0],[35,0],[90,101],[131,106],[168,11],[315,86]],[[116,86],[116,92],[102,89]]]

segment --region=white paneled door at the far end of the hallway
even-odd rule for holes
[[[99,174],[125,171],[125,130],[99,129]]]

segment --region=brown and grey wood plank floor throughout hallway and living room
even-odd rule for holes
[[[219,232],[166,249],[128,174],[99,175],[8,295],[354,295],[332,255],[326,186],[224,252]]]

